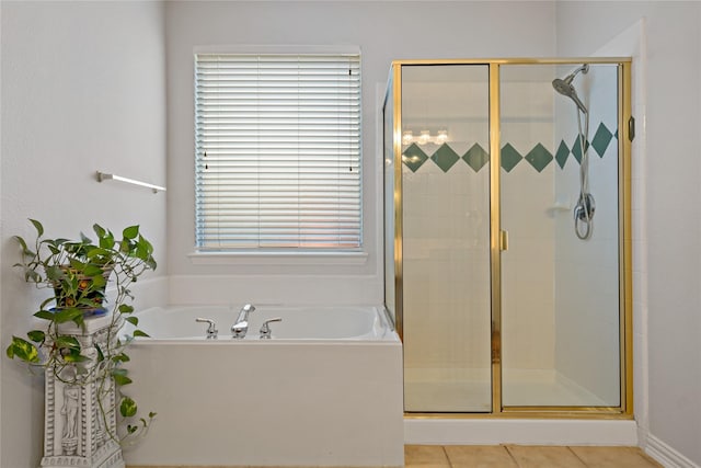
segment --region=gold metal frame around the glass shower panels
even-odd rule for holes
[[[440,65],[481,65],[489,67],[489,139],[490,139],[490,267],[491,267],[491,373],[492,409],[480,413],[426,413],[405,412],[409,418],[550,418],[550,419],[632,419],[633,418],[633,330],[632,330],[632,238],[631,238],[631,141],[634,138],[634,119],[631,115],[631,58],[497,58],[497,59],[415,59],[394,60],[390,68],[383,113],[391,115],[391,128],[387,127],[384,151],[391,146],[393,187],[384,186],[384,199],[393,199],[393,297],[386,297],[386,305],[395,320],[403,340],[403,192],[402,192],[402,67]],[[505,231],[501,220],[501,96],[499,71],[509,65],[617,65],[618,66],[618,253],[619,253],[619,362],[620,406],[617,407],[508,407],[502,395],[502,251],[505,250]],[[388,111],[388,101],[392,107]],[[391,141],[389,137],[391,134]],[[386,155],[387,157],[387,155]],[[391,193],[390,193],[391,191]],[[388,216],[386,213],[384,216]],[[387,229],[387,220],[384,222]],[[386,233],[386,239],[388,239]],[[386,240],[388,243],[389,239]],[[388,247],[386,246],[386,249]],[[387,260],[386,269],[391,263]],[[393,274],[392,274],[393,273]],[[386,281],[390,276],[386,272]],[[393,309],[393,310],[392,310]]]

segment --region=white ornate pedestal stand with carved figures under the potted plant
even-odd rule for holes
[[[85,319],[84,331],[62,324],[61,333],[76,336],[88,366],[99,365],[95,344],[104,349],[112,316]],[[114,331],[114,330],[113,330]],[[116,340],[117,336],[111,336]],[[124,468],[122,447],[111,434],[116,434],[116,393],[112,378],[84,385],[70,385],[76,368],[67,366],[60,373],[45,372],[44,468]],[[103,414],[102,408],[105,409]]]

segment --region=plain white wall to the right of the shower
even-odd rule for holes
[[[647,386],[647,399],[646,404],[636,403],[635,411],[650,432],[650,450],[666,456],[669,466],[699,466],[701,4],[559,2],[558,54],[591,54],[641,19],[646,30],[647,92],[643,112],[635,117],[639,134],[646,136],[646,151],[642,161],[633,153],[633,170],[645,176],[645,204],[637,206],[634,199],[633,207],[634,214],[642,210],[645,222],[633,233],[634,249],[644,252],[633,256],[646,258],[647,273],[635,281],[634,296],[643,300],[634,308],[636,330],[647,331],[635,333],[635,356],[648,355],[648,367],[642,369],[648,378],[636,379],[636,391]]]

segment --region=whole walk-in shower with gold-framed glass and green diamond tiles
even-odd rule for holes
[[[386,305],[407,413],[631,415],[630,65],[392,64]]]

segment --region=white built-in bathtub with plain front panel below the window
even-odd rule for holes
[[[234,340],[239,307],[137,315],[151,338],[129,347],[124,391],[158,415],[127,465],[403,465],[402,350],[381,307],[258,305]]]

